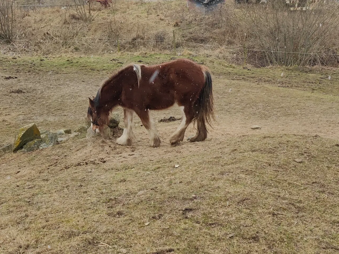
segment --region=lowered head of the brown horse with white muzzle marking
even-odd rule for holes
[[[107,125],[108,115],[107,112],[102,112],[100,107],[97,105],[97,99],[89,99],[89,106],[87,110],[87,120],[91,121],[92,130],[96,133],[99,133]]]

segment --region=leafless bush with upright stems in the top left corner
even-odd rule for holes
[[[0,0],[0,39],[11,42],[14,35],[14,0]]]

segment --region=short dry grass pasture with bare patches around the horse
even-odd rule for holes
[[[1,57],[0,145],[32,122],[83,125],[109,72],[172,57],[138,55]],[[151,148],[136,117],[131,147],[82,134],[0,155],[0,253],[339,252],[339,71],[190,58],[213,73],[207,140],[186,142],[190,126],[171,147],[180,122],[158,122],[162,144]]]

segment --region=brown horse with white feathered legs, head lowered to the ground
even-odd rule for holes
[[[187,59],[146,66],[133,64],[113,74],[99,88],[93,100],[89,99],[87,118],[92,129],[101,132],[108,123],[109,113],[115,106],[124,109],[124,131],[116,140],[120,145],[132,145],[133,113],[140,118],[149,133],[150,145],[160,145],[160,136],[149,115],[149,110],[161,110],[177,104],[183,119],[169,138],[171,145],[181,142],[185,130],[197,122],[197,133],[190,142],[207,137],[206,123],[214,120],[212,78],[210,71]]]

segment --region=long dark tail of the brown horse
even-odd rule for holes
[[[206,130],[207,132],[206,123],[212,127],[212,120],[215,121],[215,108],[211,73],[207,68],[204,67],[202,71],[205,77],[205,84],[200,92],[198,100],[196,101],[196,110],[193,121],[194,123],[197,122],[198,130]]]

